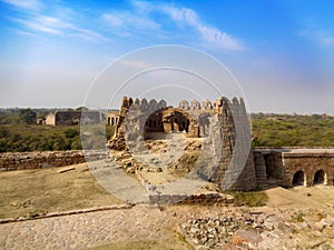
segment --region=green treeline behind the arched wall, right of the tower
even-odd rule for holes
[[[334,147],[334,117],[252,114],[255,147]]]

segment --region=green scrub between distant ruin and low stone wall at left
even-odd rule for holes
[[[80,150],[81,139],[86,149],[101,149],[114,127],[106,127],[106,137],[100,127],[91,126],[89,134],[80,137],[80,127],[50,127],[37,124],[0,126],[0,152]]]

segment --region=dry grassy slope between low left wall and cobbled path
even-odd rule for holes
[[[86,163],[73,167],[63,173],[60,168],[0,172],[0,218],[121,203],[95,181]]]

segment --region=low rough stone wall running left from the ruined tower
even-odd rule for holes
[[[102,151],[46,151],[46,152],[6,152],[0,153],[0,170],[42,169],[77,164],[89,160],[106,158]]]

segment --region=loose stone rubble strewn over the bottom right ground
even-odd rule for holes
[[[265,210],[265,209],[264,209]],[[334,214],[322,210],[235,209],[178,224],[195,249],[334,249]]]

